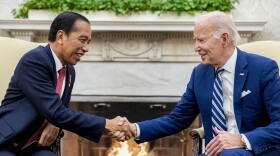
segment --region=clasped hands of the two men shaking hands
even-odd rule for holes
[[[117,141],[136,137],[136,130],[136,125],[130,123],[126,117],[117,116],[111,120],[106,119],[105,134],[112,136]]]

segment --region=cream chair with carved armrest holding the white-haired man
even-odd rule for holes
[[[238,46],[241,50],[266,56],[275,60],[280,65],[280,41],[255,41],[245,43]],[[203,127],[193,129],[190,131],[189,136],[193,140],[192,154],[201,154],[202,151],[202,139],[204,139]]]

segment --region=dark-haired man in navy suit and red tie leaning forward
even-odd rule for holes
[[[104,132],[125,134],[126,138],[115,137],[120,141],[131,137],[128,124],[118,125],[125,118],[109,120],[68,108],[75,81],[73,65],[88,52],[90,41],[88,19],[64,12],[51,24],[49,44],[21,58],[0,107],[1,156],[57,155],[53,150],[59,146],[55,144],[59,128],[95,142]]]

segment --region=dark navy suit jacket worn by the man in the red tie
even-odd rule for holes
[[[55,91],[57,72],[50,46],[39,46],[19,61],[0,107],[0,146],[29,138],[47,119],[53,125],[98,142],[105,118],[67,108],[75,69],[67,65],[63,97]]]

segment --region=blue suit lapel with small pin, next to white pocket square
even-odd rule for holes
[[[239,130],[241,127],[241,117],[242,117],[241,92],[244,88],[244,84],[246,82],[247,75],[248,75],[248,70],[245,69],[246,66],[247,66],[247,59],[245,53],[237,49],[233,103],[234,103],[235,118]]]

